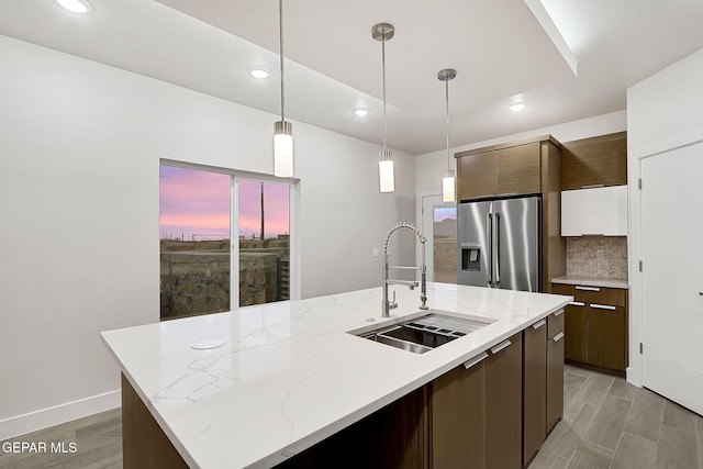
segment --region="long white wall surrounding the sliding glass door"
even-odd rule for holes
[[[276,115],[0,36],[0,439],[119,404],[99,332],[159,319],[159,158],[270,174]],[[380,284],[414,159],[295,123],[302,297]],[[410,256],[403,259],[412,259]]]

